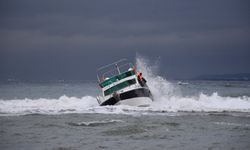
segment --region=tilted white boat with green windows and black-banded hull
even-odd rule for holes
[[[153,96],[141,72],[127,59],[97,69],[100,106],[130,105],[149,106]]]

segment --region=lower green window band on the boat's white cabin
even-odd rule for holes
[[[106,91],[104,91],[104,95],[105,96],[110,95],[115,91],[121,90],[121,89],[128,87],[128,86],[135,84],[135,83],[136,83],[135,79],[124,81],[124,82],[119,83],[116,86],[113,86],[113,87],[107,89]]]

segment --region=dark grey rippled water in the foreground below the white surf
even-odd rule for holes
[[[249,114],[25,115],[1,117],[4,149],[249,149]]]

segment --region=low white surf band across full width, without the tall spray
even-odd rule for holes
[[[165,112],[250,112],[249,97],[221,97],[200,94],[198,97],[172,96],[156,99],[149,107],[126,105],[99,106],[91,96],[82,98],[61,96],[59,99],[0,100],[0,116],[26,114],[150,114]]]

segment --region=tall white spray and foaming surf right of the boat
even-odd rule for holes
[[[201,93],[195,97],[183,97],[180,91],[163,77],[157,76],[156,67],[149,67],[147,60],[142,57],[136,59],[137,68],[143,72],[154,97],[152,111],[242,111],[250,112],[250,98],[221,97],[217,93],[205,95]]]

